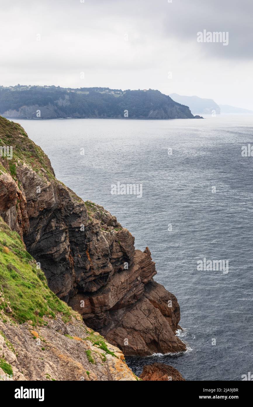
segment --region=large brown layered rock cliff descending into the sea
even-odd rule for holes
[[[149,249],[117,219],[57,181],[46,155],[16,123],[0,118],[0,214],[24,239],[56,295],[126,355],[179,352],[175,296],[153,280]],[[10,137],[6,138],[6,131]],[[11,164],[10,164],[11,163]]]

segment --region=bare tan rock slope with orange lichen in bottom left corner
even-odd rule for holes
[[[39,328],[29,322],[11,322],[7,319],[3,324],[0,319],[0,360],[4,357],[5,366],[4,370],[0,367],[0,381],[138,380],[121,350],[105,341],[111,352],[107,353],[91,340],[82,339],[89,337],[89,328],[80,321],[73,319],[66,325],[58,316],[53,320],[45,318],[48,326]]]

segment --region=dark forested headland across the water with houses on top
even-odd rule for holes
[[[194,118],[188,106],[158,90],[0,86],[7,118]]]

